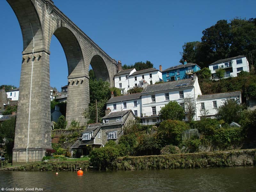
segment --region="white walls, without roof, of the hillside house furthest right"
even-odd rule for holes
[[[239,62],[240,60],[242,60],[242,63]],[[225,63],[227,63],[227,62],[225,62]],[[241,71],[250,72],[249,62],[246,59],[246,57],[231,60],[230,64],[232,65],[232,68],[231,67],[230,68],[225,67],[225,63],[217,63],[217,64],[214,64],[214,65],[209,65],[209,69],[211,70],[211,73],[212,74],[216,73],[215,69],[213,69],[216,66],[218,66],[218,68],[223,68],[223,69],[226,70],[224,78],[228,78],[230,76],[231,77],[237,77],[237,74],[240,73]],[[239,63],[239,64],[237,64],[237,63]],[[229,72],[231,70],[232,70],[232,72]]]

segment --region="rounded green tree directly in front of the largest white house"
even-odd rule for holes
[[[159,111],[162,120],[182,120],[184,118],[184,110],[177,101],[170,101]]]

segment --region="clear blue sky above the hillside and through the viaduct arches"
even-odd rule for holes
[[[255,0],[248,1],[84,1],[54,4],[110,57],[122,64],[149,60],[155,68],[178,65],[185,42],[200,41],[202,31],[218,20],[255,18]],[[0,1],[0,85],[20,84],[22,36],[10,5]],[[67,84],[64,51],[51,42],[50,83]]]

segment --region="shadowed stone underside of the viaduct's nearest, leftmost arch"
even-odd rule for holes
[[[35,2],[33,0],[17,0],[7,2],[12,7],[21,28],[22,38],[23,38],[23,54],[31,53],[33,49],[33,35],[34,39],[41,41],[44,39],[42,24],[39,18],[38,12],[35,7]],[[33,33],[32,33],[32,30]],[[42,49],[43,45],[36,44],[34,42],[34,50]],[[49,50],[45,50],[48,52]]]

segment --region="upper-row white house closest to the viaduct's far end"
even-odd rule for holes
[[[115,81],[115,87],[121,89],[121,93],[125,94],[128,89],[130,88],[129,86],[129,76],[136,71],[135,68],[132,69],[126,69],[123,71],[119,71],[116,73],[114,76],[114,81]]]

